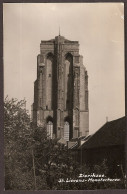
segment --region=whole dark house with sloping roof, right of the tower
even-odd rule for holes
[[[81,164],[96,165],[104,160],[115,170],[125,168],[126,118],[105,123],[98,131],[75,150]]]

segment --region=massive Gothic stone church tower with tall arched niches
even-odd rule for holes
[[[32,120],[45,126],[50,138],[69,141],[88,135],[88,75],[78,41],[60,35],[41,41]]]

